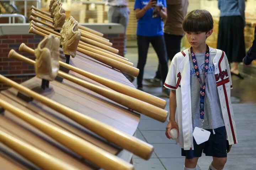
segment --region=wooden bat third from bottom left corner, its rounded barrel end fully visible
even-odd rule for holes
[[[45,96],[37,94],[36,92],[0,75],[0,81],[9,86],[14,87],[18,91],[22,91],[25,94],[31,96],[34,100],[37,100],[46,106],[54,109],[55,111],[62,113],[66,117],[76,121],[85,128],[95,132],[96,134],[106,138],[108,141],[115,143],[116,145],[142,157],[144,159],[149,159],[151,153],[153,152],[153,146],[148,143],[137,139],[136,137],[130,136],[118,129],[113,128],[110,125],[102,123],[94,118],[82,114],[74,109],[64,106],[54,100],[51,100]]]

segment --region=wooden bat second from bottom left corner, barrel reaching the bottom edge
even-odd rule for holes
[[[3,101],[0,99],[0,106],[2,106],[7,111],[10,111],[17,117],[21,118],[22,120],[26,121],[30,125],[34,126],[35,128],[41,130],[45,134],[49,135],[56,141],[62,143],[64,146],[70,148],[71,150],[75,151],[76,153],[80,154],[85,159],[89,160],[90,162],[100,166],[101,168],[108,169],[108,170],[131,170],[133,166],[124,160],[118,158],[116,155],[108,153],[107,151],[101,149],[93,145],[90,142],[83,140],[82,138],[66,131],[62,130],[54,125],[47,123],[37,117],[34,117],[31,114],[28,114],[21,109]],[[1,134],[1,133],[0,133]],[[39,159],[41,160],[41,159]],[[49,160],[49,159],[48,159]],[[53,161],[56,158],[53,159]],[[52,160],[50,160],[52,161]],[[59,160],[58,163],[61,161]],[[54,162],[55,163],[55,162]],[[55,163],[56,164],[56,163]],[[54,165],[55,165],[54,164]],[[63,167],[63,164],[57,164],[60,167]],[[69,170],[70,165],[68,166]],[[55,167],[57,168],[57,167]],[[48,169],[48,167],[47,167]],[[68,170],[68,168],[64,168]]]

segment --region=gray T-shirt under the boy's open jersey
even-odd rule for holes
[[[190,90],[191,90],[191,104],[192,104],[192,124],[193,130],[197,126],[201,128],[201,122],[199,120],[199,103],[200,103],[200,83],[197,79],[194,71],[193,62],[190,55]],[[195,53],[197,66],[199,69],[199,77],[201,83],[204,82],[204,59],[205,52]],[[224,126],[224,120],[220,107],[219,94],[217,91],[215,76],[214,76],[214,65],[213,58],[216,55],[216,50],[212,49],[209,56],[209,68],[206,77],[206,95],[204,97],[204,123],[203,129],[216,129]]]

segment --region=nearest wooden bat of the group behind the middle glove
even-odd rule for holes
[[[37,27],[34,27],[34,28],[30,27],[29,33],[34,33],[34,34],[41,35],[41,36],[46,36],[46,35],[50,34],[46,30],[43,30],[43,29],[40,29],[40,28],[37,28]],[[59,37],[58,35],[55,35],[55,36]],[[134,77],[137,77],[138,74],[139,74],[139,69],[138,68],[129,66],[128,64],[125,64],[125,63],[120,62],[120,61],[113,60],[112,58],[108,58],[108,57],[105,57],[103,55],[99,55],[97,53],[82,49],[81,47],[83,47],[83,46],[78,44],[77,51],[79,51],[79,52],[81,52],[85,55],[88,55],[92,58],[95,58],[96,60],[107,64],[108,66],[111,66],[113,68],[121,70],[122,72],[130,74]]]

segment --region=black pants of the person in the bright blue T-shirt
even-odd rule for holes
[[[152,44],[157,56],[159,63],[161,65],[161,77],[163,78],[163,83],[165,82],[166,75],[168,73],[167,66],[167,53],[165,48],[164,36],[139,36],[137,35],[137,43],[138,43],[138,65],[137,68],[140,70],[139,75],[137,77],[137,85],[138,87],[142,87],[142,79],[144,74],[144,67],[146,64],[146,58],[148,54],[149,43]]]

